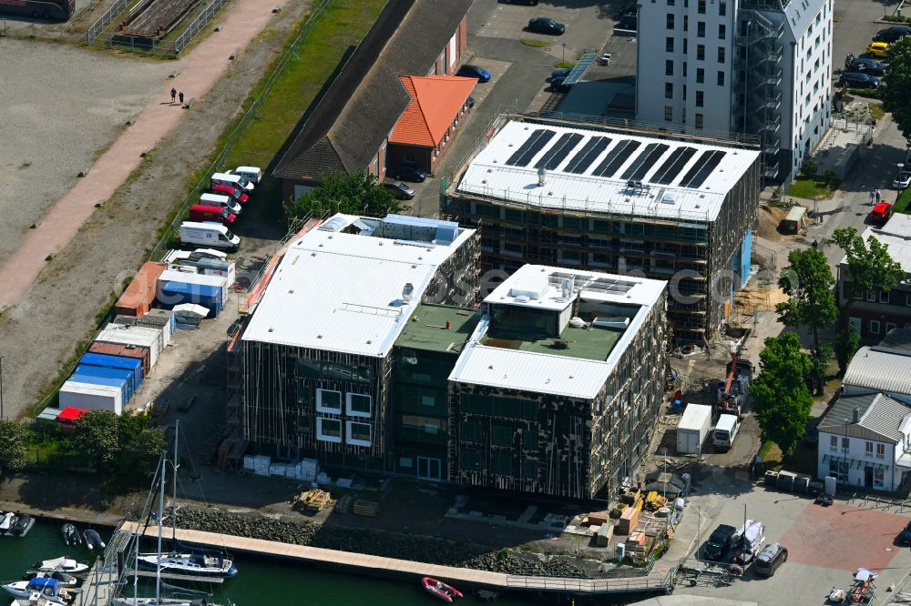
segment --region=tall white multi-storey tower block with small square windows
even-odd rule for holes
[[[833,0],[640,0],[637,119],[758,136],[764,177],[792,179],[829,127],[832,11]]]

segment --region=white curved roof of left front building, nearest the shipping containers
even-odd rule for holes
[[[343,228],[360,217],[335,218]],[[474,233],[435,246],[314,228],[289,244],[242,338],[382,358],[436,269]]]

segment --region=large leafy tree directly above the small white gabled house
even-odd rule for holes
[[[759,359],[761,371],[750,385],[753,410],[763,439],[773,440],[787,456],[804,437],[813,408],[806,387],[813,360],[802,351],[800,338],[793,332],[765,339]]]

